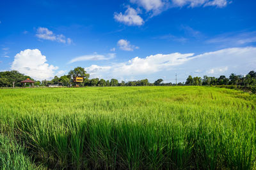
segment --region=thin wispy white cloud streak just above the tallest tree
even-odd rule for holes
[[[68,62],[68,64],[71,64],[73,62],[77,61],[83,61],[83,60],[110,60],[115,58],[116,54],[115,53],[108,53],[108,55],[100,55],[97,53],[94,53],[93,55],[83,55],[80,57],[76,57]]]

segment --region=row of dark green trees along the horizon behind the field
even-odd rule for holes
[[[76,67],[70,70],[67,75],[54,76],[52,80],[33,80],[30,76],[19,73],[19,71],[4,71],[0,72],[0,87],[21,87],[20,81],[26,80],[27,78],[35,81],[35,86],[46,87],[49,85],[60,85],[60,86],[74,86],[75,83],[72,82],[72,78],[76,76],[83,77],[83,82],[79,83],[80,86],[158,86],[158,85],[176,85],[175,83],[163,83],[163,79],[158,79],[154,83],[150,83],[148,79],[138,80],[138,81],[121,81],[118,82],[115,78],[111,80],[104,80],[99,78],[90,78],[90,74],[86,73],[83,67]],[[243,85],[243,86],[255,86],[256,85],[256,72],[250,71],[246,76],[236,75],[234,73],[230,74],[228,78],[226,76],[220,76],[219,78],[204,76],[192,77],[188,76],[186,82],[177,83],[177,85]],[[29,85],[28,85],[29,86]]]

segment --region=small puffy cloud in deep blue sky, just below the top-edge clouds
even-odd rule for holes
[[[114,18],[118,22],[122,22],[126,25],[143,25],[144,20],[143,18],[138,15],[138,11],[134,10],[134,8],[131,8],[128,6],[127,10],[124,14],[122,13],[115,13]]]

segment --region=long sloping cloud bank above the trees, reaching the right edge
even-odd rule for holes
[[[225,48],[214,52],[194,55],[193,53],[156,54],[145,58],[134,57],[127,62],[111,66],[92,65],[86,71],[94,77],[118,78],[118,80],[139,80],[148,78],[154,81],[166,77],[166,81],[185,81],[192,76],[229,76],[230,73],[246,74],[256,69],[256,47]],[[110,75],[110,76],[109,76]]]

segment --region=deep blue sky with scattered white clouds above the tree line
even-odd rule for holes
[[[0,71],[154,82],[256,71],[256,1],[0,1]]]

